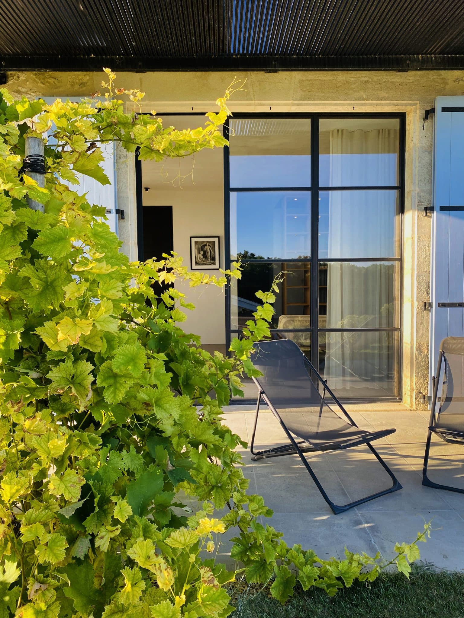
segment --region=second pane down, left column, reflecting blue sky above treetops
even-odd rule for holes
[[[231,256],[309,258],[311,193],[253,191],[230,194]]]

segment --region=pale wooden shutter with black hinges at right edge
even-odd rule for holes
[[[440,341],[464,336],[464,96],[437,97],[434,123],[430,376]]]

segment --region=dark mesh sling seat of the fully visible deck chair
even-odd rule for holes
[[[306,370],[303,353],[293,341],[259,342],[251,360],[263,374],[255,378],[256,383],[295,436],[318,447],[369,434],[340,418],[322,398]]]

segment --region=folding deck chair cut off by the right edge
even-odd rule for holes
[[[440,374],[443,367],[440,405],[437,398]],[[422,484],[436,489],[449,489],[464,493],[464,489],[434,483],[427,476],[432,433],[445,442],[464,445],[464,337],[446,337],[440,343],[437,375],[433,378],[432,405],[430,408],[429,433],[427,434]]]

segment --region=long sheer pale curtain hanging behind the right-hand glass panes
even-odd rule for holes
[[[332,129],[330,186],[395,185],[397,153],[397,129]],[[396,325],[393,265],[350,263],[353,258],[397,255],[396,193],[345,190],[330,191],[329,196],[328,257],[346,262],[328,264],[327,328]],[[392,389],[389,337],[385,332],[327,333],[325,378],[348,396],[366,386],[369,391]]]

